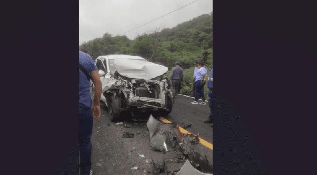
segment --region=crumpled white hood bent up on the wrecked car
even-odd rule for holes
[[[148,62],[138,56],[109,55],[108,58],[112,73],[117,71],[120,75],[132,79],[150,80],[168,71],[167,67]]]

